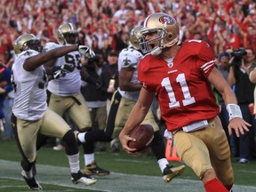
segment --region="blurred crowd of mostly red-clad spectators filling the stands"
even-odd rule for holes
[[[152,12],[171,14],[180,23],[180,41],[204,39],[216,57],[228,48],[256,49],[254,0],[1,0],[2,62],[12,59],[13,40],[21,34],[35,34],[43,44],[57,41],[63,22],[76,24],[80,44],[106,59],[109,50],[127,46],[130,30]]]

